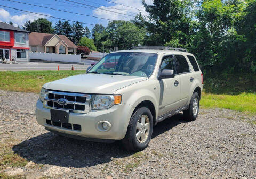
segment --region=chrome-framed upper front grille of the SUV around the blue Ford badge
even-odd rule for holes
[[[67,105],[57,103],[58,99],[67,99]],[[87,113],[90,110],[91,95],[82,93],[45,91],[44,107],[50,109],[68,109],[74,113]]]

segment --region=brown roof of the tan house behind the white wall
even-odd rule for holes
[[[55,34],[31,32],[29,34],[29,45],[45,45]],[[70,48],[77,48],[65,35],[57,35]]]

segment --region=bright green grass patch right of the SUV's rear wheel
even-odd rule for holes
[[[241,93],[239,95],[202,94],[203,108],[225,108],[256,114],[256,94]]]

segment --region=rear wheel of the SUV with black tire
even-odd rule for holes
[[[193,104],[194,104],[195,101],[197,101],[197,110],[194,109],[194,112],[193,112]],[[199,113],[199,106],[200,106],[199,95],[198,95],[197,92],[194,92],[192,97],[191,97],[188,109],[183,111],[183,115],[184,115],[185,120],[195,121],[196,117]],[[195,104],[194,104],[194,107],[196,107]]]

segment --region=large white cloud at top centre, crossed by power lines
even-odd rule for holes
[[[132,16],[135,16],[139,13],[139,10],[142,10],[141,13],[142,15],[147,15],[145,8],[143,7],[141,0],[129,0],[129,1],[123,1],[123,0],[112,0],[115,3],[118,4],[114,4],[114,3],[108,3],[109,6],[105,7],[105,6],[101,6],[95,10],[93,10],[93,14],[100,16],[101,18],[107,18],[107,19],[113,19],[113,20],[129,20],[129,19],[133,19]],[[146,0],[145,1],[147,4],[152,4],[153,0]],[[130,7],[126,7],[126,6],[122,6],[119,4],[123,4],[126,6],[130,6]],[[134,8],[131,8],[134,7]],[[136,9],[135,9],[136,8]],[[102,10],[103,9],[103,10]],[[118,10],[117,10],[118,9]],[[139,9],[139,10],[138,10]],[[122,13],[122,14],[118,14],[118,13],[113,13],[113,12],[109,12],[109,11],[104,11],[104,10],[110,10],[110,11],[114,11],[114,12],[118,12],[118,13]],[[131,15],[131,16],[126,16],[126,15]],[[101,22],[103,24],[106,24],[108,20],[102,20]]]

